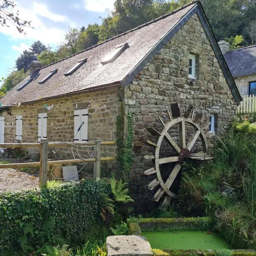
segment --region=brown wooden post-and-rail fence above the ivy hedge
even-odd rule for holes
[[[70,160],[54,160],[48,161],[48,147],[67,147],[67,146],[95,146],[95,157],[88,160],[70,159]],[[56,164],[69,164],[69,163],[86,163],[94,162],[93,176],[96,180],[100,179],[100,163],[101,161],[114,161],[116,157],[101,157],[102,145],[116,145],[115,141],[96,141],[96,142],[77,142],[77,143],[62,143],[62,142],[48,142],[47,139],[41,139],[40,143],[2,143],[0,148],[40,148],[40,162],[33,163],[7,163],[0,164],[0,169],[6,168],[22,168],[22,167],[35,167],[39,166],[39,187],[47,183],[47,166]]]

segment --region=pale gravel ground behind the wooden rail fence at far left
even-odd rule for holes
[[[26,163],[32,160],[1,157],[0,162]],[[39,170],[35,168],[0,169],[0,192],[38,188]]]

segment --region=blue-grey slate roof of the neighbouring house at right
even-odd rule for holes
[[[256,45],[226,52],[224,58],[232,76],[256,74]]]

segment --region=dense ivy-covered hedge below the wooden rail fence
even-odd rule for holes
[[[0,255],[29,253],[46,243],[72,246],[103,237],[102,194],[109,195],[110,186],[95,180],[1,193]]]

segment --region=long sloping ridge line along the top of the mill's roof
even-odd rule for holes
[[[133,29],[130,29],[130,30],[125,31],[125,32],[123,32],[123,33],[121,33],[121,34],[115,35],[115,36],[113,36],[112,38],[109,38],[109,39],[107,39],[107,40],[105,40],[105,41],[102,41],[102,42],[100,42],[99,44],[94,44],[93,46],[90,46],[90,47],[88,47],[88,48],[86,48],[86,49],[84,49],[84,50],[82,50],[82,51],[80,51],[80,52],[76,52],[76,53],[73,54],[73,55],[67,56],[66,58],[62,58],[62,59],[60,59],[60,60],[58,60],[58,61],[52,62],[52,63],[50,63],[50,64],[44,66],[44,67],[41,67],[40,70],[41,70],[41,69],[44,69],[45,67],[49,67],[49,66],[51,66],[51,65],[53,65],[53,64],[56,64],[56,63],[58,63],[58,62],[64,61],[64,60],[66,60],[66,59],[68,59],[68,58],[71,58],[71,57],[73,57],[73,56],[76,56],[76,55],[78,55],[78,54],[80,54],[80,53],[86,52],[86,51],[88,51],[88,50],[90,50],[90,49],[96,48],[96,47],[98,47],[99,45],[105,44],[105,43],[107,43],[108,41],[111,41],[111,40],[113,40],[113,39],[115,39],[115,38],[119,38],[119,37],[122,36],[122,35],[126,35],[126,34],[128,34],[129,32],[133,32],[133,31],[135,31],[135,30],[137,30],[137,29],[140,29],[140,28],[142,28],[142,27],[144,27],[144,26],[148,26],[149,24],[152,24],[152,23],[154,23],[154,22],[156,22],[156,21],[158,21],[158,20],[162,20],[163,18],[169,17],[170,15],[173,15],[173,14],[175,14],[176,12],[179,12],[179,11],[181,11],[182,9],[185,9],[186,7],[188,7],[188,6],[190,6],[190,5],[194,4],[194,3],[198,3],[198,2],[200,2],[200,0],[193,0],[193,1],[191,1],[190,3],[187,3],[186,5],[183,5],[183,6],[181,6],[180,8],[175,9],[175,10],[172,11],[172,12],[166,13],[166,14],[164,14],[164,15],[158,17],[158,18],[155,18],[154,20],[150,20],[150,21],[148,21],[148,22],[146,22],[146,23],[144,23],[144,24],[141,24],[141,25],[139,25],[139,26],[133,28]],[[39,69],[38,69],[38,70],[39,70]]]

